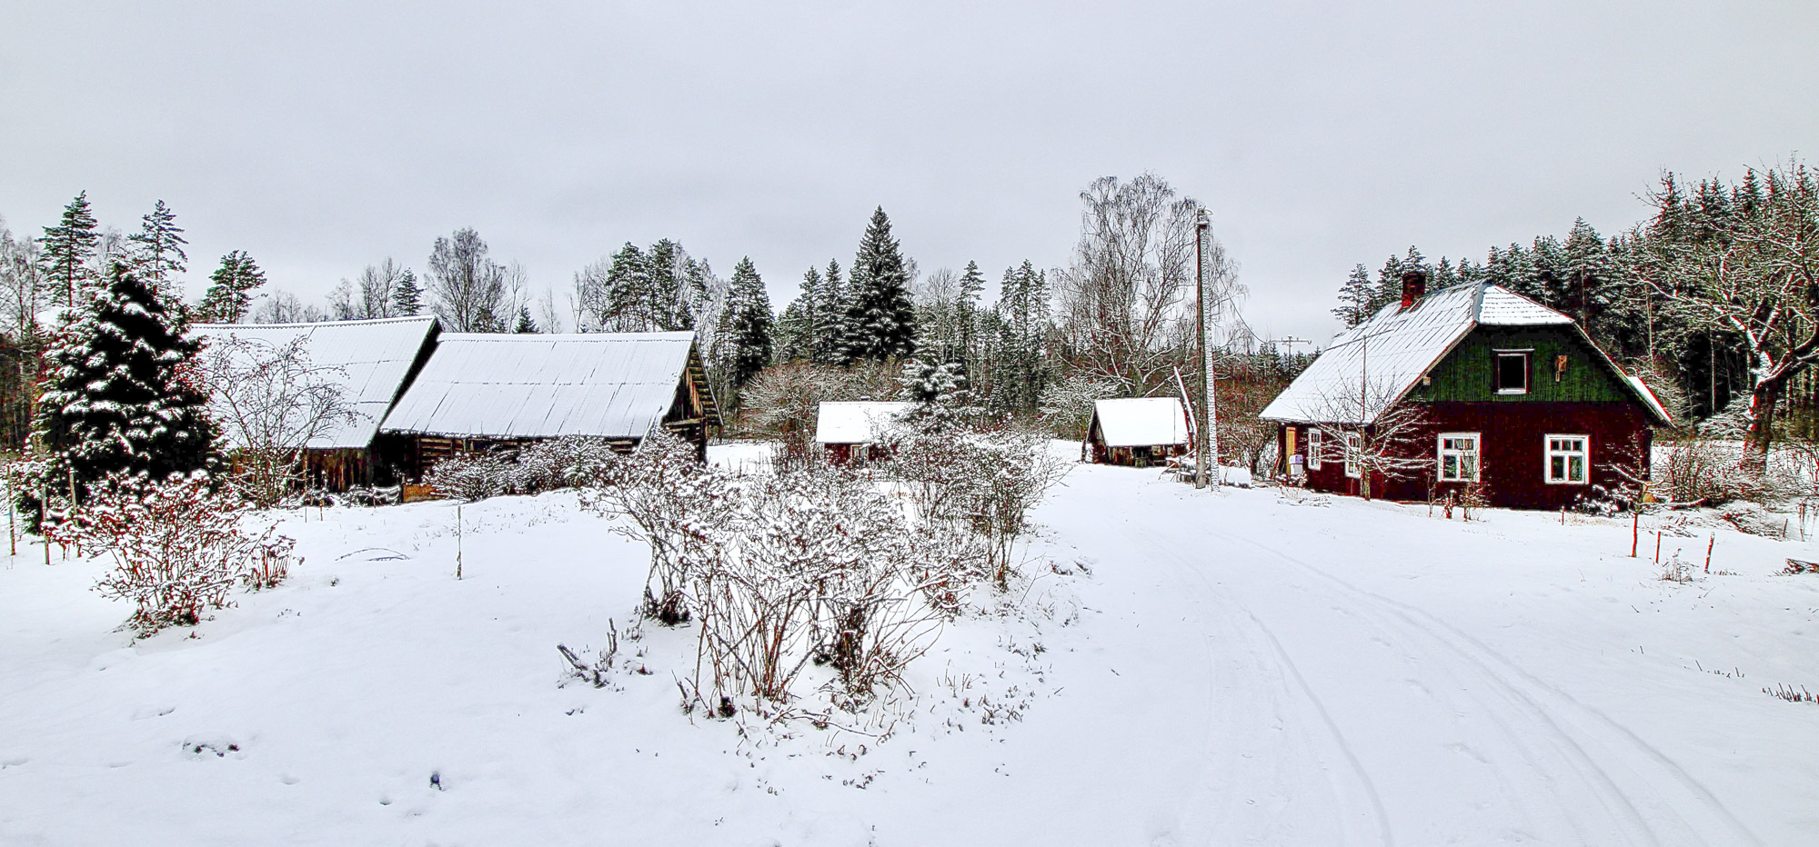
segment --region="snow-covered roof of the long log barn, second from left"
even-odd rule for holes
[[[386,433],[644,438],[688,376],[695,333],[442,333]]]

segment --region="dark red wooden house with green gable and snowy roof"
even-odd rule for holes
[[[1372,474],[1372,496],[1475,487],[1521,509],[1648,474],[1650,427],[1668,413],[1573,318],[1501,285],[1424,287],[1404,278],[1401,304],[1335,336],[1262,411],[1279,424],[1279,473],[1357,494],[1373,463],[1357,456],[1375,443],[1399,467]]]

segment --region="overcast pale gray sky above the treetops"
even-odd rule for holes
[[[669,236],[780,309],[884,205],[920,267],[1066,264],[1079,191],[1213,209],[1251,324],[1322,340],[1353,264],[1639,220],[1661,169],[1819,138],[1819,4],[11,4],[0,214],[166,200],[317,298],[477,227],[537,289]]]

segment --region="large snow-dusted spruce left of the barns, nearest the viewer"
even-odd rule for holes
[[[195,378],[200,351],[167,300],[115,264],[45,353],[35,434],[47,462],[24,493],[33,518],[40,494],[80,503],[107,474],[215,469],[218,431]]]

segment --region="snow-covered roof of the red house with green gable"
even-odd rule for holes
[[[1502,285],[1473,282],[1435,291],[1415,307],[1401,304],[1377,309],[1370,320],[1333,336],[1332,344],[1293,384],[1264,407],[1261,418],[1275,422],[1368,424],[1395,405],[1433,365],[1475,327],[1572,327],[1617,374],[1657,422],[1666,411],[1637,380],[1617,367],[1573,318],[1548,309]],[[1368,391],[1359,382],[1370,380]],[[1361,402],[1362,396],[1362,402]],[[1359,407],[1362,405],[1362,420]]]

